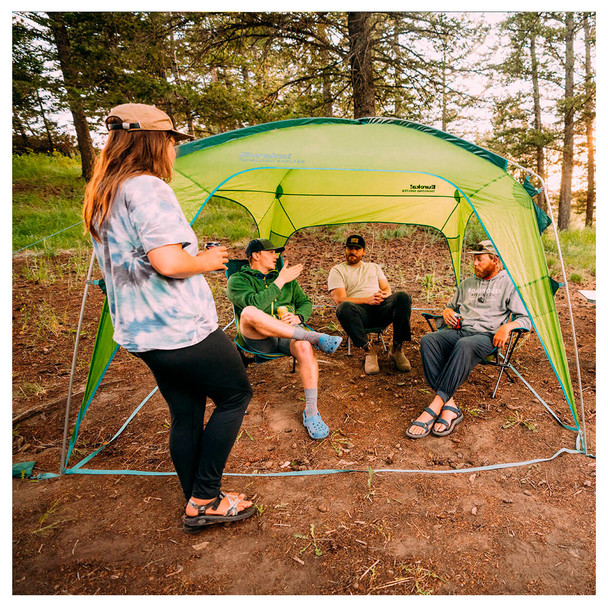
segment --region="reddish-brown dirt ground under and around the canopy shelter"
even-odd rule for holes
[[[368,259],[384,265],[393,290],[409,292],[419,309],[442,306],[454,287],[442,243],[422,231],[391,242],[377,234],[379,227],[368,226]],[[232,253],[242,256],[241,250]],[[342,255],[341,244],[318,231],[289,242],[287,257],[306,263],[300,282],[313,299],[310,323],[316,328],[331,330],[337,323],[325,280]],[[82,277],[67,254],[56,261],[50,280],[31,278],[31,256],[13,262],[13,463],[35,461],[34,476],[57,473]],[[223,327],[232,318],[225,278],[210,274],[208,280]],[[595,307],[576,288],[571,298],[594,454]],[[102,301],[92,288],[71,424]],[[557,305],[577,386],[563,290]],[[418,351],[427,331],[420,310],[412,323],[408,374],[397,373],[386,355],[381,373],[366,376],[358,352],[348,356],[344,347],[319,354],[319,408],[331,429],[323,441],[309,439],[301,424],[303,391],[290,359],[248,367],[254,397],[228,461],[226,473],[234,476],[224,481],[224,489],[255,498],[258,513],[244,522],[185,534],[174,475],[13,479],[13,594],[595,594],[595,459],[562,454],[471,471],[575,448],[575,434],[519,379],[503,379],[492,399],[496,370],[488,366],[474,370],[457,393],[465,419],[452,435],[405,437],[409,421],[431,397]],[[234,335],[232,327],[226,331]],[[518,350],[516,365],[571,424],[536,336]],[[154,386],[143,363],[119,351],[69,465],[109,441]],[[171,472],[168,420],[156,393],[88,467]],[[326,469],[354,472],[260,476]]]

